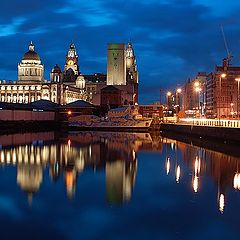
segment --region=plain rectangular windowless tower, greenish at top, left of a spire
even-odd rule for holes
[[[108,45],[107,85],[126,85],[125,44]]]

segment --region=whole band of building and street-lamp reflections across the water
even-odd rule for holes
[[[0,136],[0,141],[0,164],[16,168],[17,185],[27,193],[30,204],[47,177],[52,182],[63,179],[66,195],[74,198],[78,177],[86,170],[93,171],[92,174],[104,171],[106,200],[110,205],[130,201],[141,152],[158,154],[168,182],[172,176],[173,182],[187,184],[195,195],[211,184],[203,182],[204,177],[210,177],[217,189],[217,208],[221,213],[226,208],[228,189],[240,190],[238,157],[161,136],[104,132],[56,136],[49,132]]]

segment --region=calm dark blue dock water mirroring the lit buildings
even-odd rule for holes
[[[149,134],[47,132],[0,136],[0,165],[0,239],[239,238],[234,156]]]

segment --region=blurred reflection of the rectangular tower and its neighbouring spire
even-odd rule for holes
[[[109,204],[120,204],[131,199],[137,172],[137,161],[106,163],[106,192]]]

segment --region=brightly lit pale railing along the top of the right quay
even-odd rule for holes
[[[181,118],[179,119],[178,123],[194,126],[240,128],[240,120],[228,119]]]

